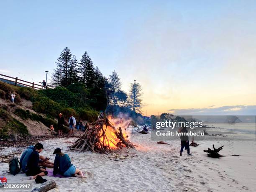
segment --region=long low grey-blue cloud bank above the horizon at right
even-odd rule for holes
[[[256,105],[233,105],[218,108],[169,109],[175,115],[256,115]]]

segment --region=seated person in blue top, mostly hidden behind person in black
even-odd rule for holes
[[[36,143],[35,146],[28,146],[28,148],[22,153],[20,156],[20,167],[22,171],[25,173],[26,172],[26,166],[28,164],[28,158],[31,155],[33,151],[37,148],[38,145],[42,145],[41,143]],[[44,167],[53,167],[53,162],[49,161],[48,158],[44,156],[39,156],[39,166],[44,166]]]

